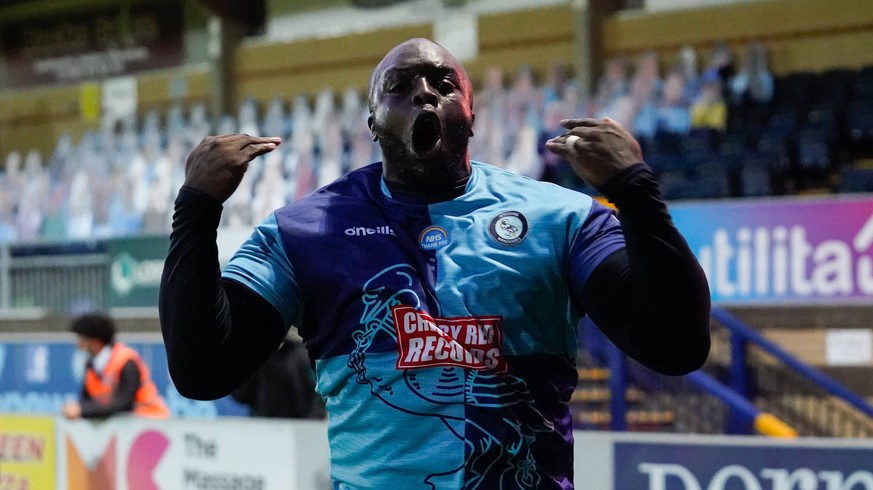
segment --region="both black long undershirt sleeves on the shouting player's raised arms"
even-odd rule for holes
[[[709,352],[709,289],[673,226],[648,167],[603,186],[620,210],[627,246],[588,279],[583,307],[634,359],[664,374],[700,367]],[[216,228],[221,204],[183,187],[176,199],[160,290],[170,374],[185,396],[214,399],[248,379],[281,343],[279,312],[221,278]]]

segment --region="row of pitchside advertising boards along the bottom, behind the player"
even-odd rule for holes
[[[605,431],[573,436],[577,488],[873,489],[870,440]],[[0,414],[0,440],[6,488],[333,488],[323,421],[90,422]]]

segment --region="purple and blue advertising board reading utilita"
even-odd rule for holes
[[[671,206],[722,304],[873,304],[873,197]]]

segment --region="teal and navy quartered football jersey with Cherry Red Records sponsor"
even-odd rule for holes
[[[589,196],[476,163],[435,204],[380,164],[277,210],[223,276],[297,325],[338,488],[571,488],[576,324],[624,247]]]

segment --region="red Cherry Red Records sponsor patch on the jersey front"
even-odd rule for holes
[[[432,317],[411,306],[392,306],[400,355],[397,369],[457,366],[505,372],[502,317]]]

